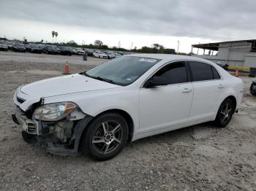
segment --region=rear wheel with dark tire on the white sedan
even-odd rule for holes
[[[230,122],[233,114],[235,112],[235,105],[233,102],[227,98],[219,106],[219,110],[215,119],[215,124],[220,128],[225,128]]]

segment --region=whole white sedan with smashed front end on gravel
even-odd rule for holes
[[[89,71],[21,85],[12,119],[24,141],[48,152],[96,160],[129,141],[214,121],[238,111],[241,79],[215,63],[183,55],[124,55]]]

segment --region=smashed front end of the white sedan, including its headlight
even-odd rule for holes
[[[13,121],[23,128],[24,141],[45,146],[56,155],[78,153],[80,137],[91,118],[72,102],[44,104],[43,99],[26,112],[16,106],[12,114]]]

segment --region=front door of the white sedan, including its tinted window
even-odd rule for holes
[[[154,76],[164,77],[168,85],[140,89],[140,133],[189,122],[193,88],[186,63],[169,63]]]

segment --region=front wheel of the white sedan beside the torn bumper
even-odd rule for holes
[[[94,159],[108,160],[125,147],[128,134],[124,117],[116,113],[102,114],[87,127],[83,145]]]

